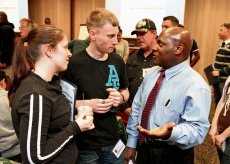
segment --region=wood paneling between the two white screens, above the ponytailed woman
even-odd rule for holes
[[[85,24],[90,11],[104,8],[105,0],[28,0],[28,5],[29,18],[37,24],[44,24],[45,17],[50,17],[68,39],[77,39],[80,24]]]

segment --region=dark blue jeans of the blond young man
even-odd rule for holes
[[[124,152],[117,158],[112,150],[115,145],[96,150],[81,150],[78,152],[76,164],[124,164]]]

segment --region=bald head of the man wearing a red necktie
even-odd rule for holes
[[[190,33],[180,27],[169,28],[158,37],[158,62],[165,69],[173,67],[189,57],[192,48]]]

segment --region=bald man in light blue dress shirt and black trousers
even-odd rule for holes
[[[166,29],[157,42],[155,64],[159,66],[147,73],[134,98],[125,159],[137,164],[192,164],[193,148],[204,141],[210,126],[210,88],[187,62],[192,47],[187,30]],[[165,78],[143,128],[143,109],[162,70]],[[138,143],[139,133],[145,136],[143,144]]]

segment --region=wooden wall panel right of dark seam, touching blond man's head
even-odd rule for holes
[[[80,24],[85,24],[89,12],[96,8],[105,8],[105,0],[74,0],[72,39],[78,38]]]

